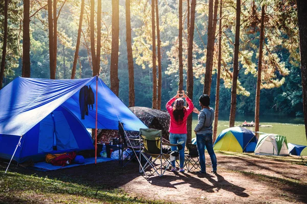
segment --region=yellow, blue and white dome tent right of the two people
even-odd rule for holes
[[[254,152],[257,144],[255,134],[244,127],[229,127],[217,136],[214,150]]]

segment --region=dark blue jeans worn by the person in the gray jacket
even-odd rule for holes
[[[206,172],[205,145],[206,145],[208,154],[210,155],[210,158],[211,158],[213,171],[216,171],[217,162],[216,162],[216,156],[213,150],[212,134],[210,133],[207,133],[204,135],[196,134],[196,143],[197,143],[197,148],[198,148],[199,155],[200,155],[200,163],[201,163],[202,172]]]

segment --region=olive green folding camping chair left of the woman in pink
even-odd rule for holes
[[[142,164],[142,162],[140,162],[140,173],[144,173],[146,175],[145,170],[148,167],[152,167],[153,172],[150,172],[151,175],[157,173],[159,176],[162,176],[165,173],[166,169],[171,166],[171,162],[169,160],[170,154],[164,154],[162,152],[162,145],[177,145],[162,142],[161,130],[140,129],[140,136],[140,140],[143,140],[144,145],[144,149],[140,149],[140,160],[142,161],[144,158],[146,161],[144,165]],[[175,159],[175,157],[173,157],[173,159]],[[155,164],[156,161],[157,163],[159,163],[158,165]],[[176,167],[173,168],[176,170]]]

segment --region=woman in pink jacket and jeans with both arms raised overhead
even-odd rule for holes
[[[182,144],[183,148],[179,150],[179,161],[180,161],[180,172],[184,172],[184,148],[187,140],[187,118],[192,113],[194,105],[191,99],[182,91],[182,95],[177,91],[177,95],[171,98],[166,104],[166,110],[170,115],[169,121],[169,141],[171,144],[178,144],[179,142],[184,142]],[[185,98],[188,107],[184,106]],[[172,103],[174,103],[173,106]],[[171,146],[171,150],[177,150],[177,146]],[[175,161],[171,161],[172,166],[175,165]],[[175,171],[175,169],[171,169]]]

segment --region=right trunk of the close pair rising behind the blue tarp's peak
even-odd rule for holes
[[[101,53],[101,0],[98,0],[97,4],[97,55],[96,55],[96,68],[94,75],[99,75],[100,71],[100,53]]]

